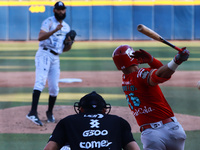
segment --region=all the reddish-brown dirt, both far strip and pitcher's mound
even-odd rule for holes
[[[1,72],[0,87],[33,87],[34,76],[34,72]],[[161,84],[161,86],[196,87],[199,77],[200,71],[177,71],[171,80]],[[80,78],[82,82],[60,83],[60,87],[121,86],[121,72],[119,71],[61,72],[61,79],[62,78]],[[46,109],[47,106],[38,106],[38,114],[41,121],[44,123],[43,127],[37,126],[26,119],[25,116],[29,112],[30,106],[1,109],[0,133],[51,133],[56,123],[46,123]],[[56,122],[70,114],[74,114],[72,106],[56,105],[54,108]],[[113,106],[111,114],[123,117],[131,124],[132,132],[139,132],[139,127],[128,107]],[[200,117],[183,114],[175,114],[175,116],[186,131],[200,130]]]

